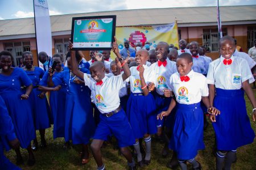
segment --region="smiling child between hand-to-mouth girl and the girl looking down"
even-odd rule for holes
[[[162,111],[166,111],[170,105],[171,97],[165,97],[164,91],[170,90],[170,76],[177,72],[176,69],[176,63],[174,61],[167,60],[167,56],[169,53],[169,45],[167,42],[159,42],[158,45],[155,48],[156,50],[156,57],[158,58],[158,62],[153,63],[150,66],[150,69],[154,70],[156,73],[155,77],[155,103],[156,103],[156,115]],[[172,116],[172,115],[171,115]],[[168,138],[166,137],[165,133],[163,132],[164,126],[166,124],[171,124],[174,120],[174,116],[172,118],[167,120],[158,120],[156,122],[156,126],[158,127],[158,133],[156,134],[158,137],[162,137],[164,139],[164,142],[166,142],[166,149],[162,151],[166,152],[168,151]],[[164,122],[166,121],[166,122]],[[166,154],[164,154],[166,156]]]

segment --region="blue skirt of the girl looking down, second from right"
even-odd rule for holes
[[[195,158],[204,146],[204,117],[200,103],[177,104],[174,131],[169,147],[177,152],[180,160]]]

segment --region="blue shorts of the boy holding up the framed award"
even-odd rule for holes
[[[110,134],[117,138],[119,147],[131,146],[135,143],[133,131],[123,109],[110,117],[100,114],[100,123],[93,139],[106,141]]]

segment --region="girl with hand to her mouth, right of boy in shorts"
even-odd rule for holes
[[[127,79],[130,82],[131,94],[127,101],[127,117],[129,118],[131,128],[134,131],[136,143],[134,143],[137,152],[137,161],[140,167],[150,164],[151,159],[151,136],[155,134],[155,100],[150,90],[154,90],[155,71],[146,65],[148,60],[148,51],[141,49],[136,52],[135,61],[138,66],[131,67],[131,76]],[[148,86],[148,87],[147,87]],[[142,159],[142,154],[138,139],[144,138],[146,143],[146,156]]]

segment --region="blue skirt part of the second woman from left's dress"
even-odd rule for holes
[[[51,112],[46,96],[43,99],[38,97],[42,91],[38,88],[33,88],[28,101],[32,108],[32,117],[36,130],[47,129],[51,127]]]

